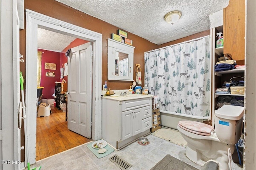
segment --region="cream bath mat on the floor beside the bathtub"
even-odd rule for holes
[[[162,127],[161,129],[156,130],[152,135],[164,139],[166,141],[170,141],[175,143],[176,145],[180,145],[186,147],[187,142],[185,139],[180,135],[180,132],[175,129],[166,129]]]

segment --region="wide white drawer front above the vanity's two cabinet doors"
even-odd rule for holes
[[[144,106],[150,106],[151,104],[151,97],[134,100],[125,100],[122,102],[122,111],[137,109]]]

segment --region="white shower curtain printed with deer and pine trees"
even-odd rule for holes
[[[209,117],[209,44],[207,36],[144,54],[145,84],[159,96],[162,112]]]

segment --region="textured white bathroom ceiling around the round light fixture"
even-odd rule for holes
[[[228,0],[56,1],[158,45],[210,29],[209,15],[228,6]],[[175,10],[182,13],[180,20],[173,25],[164,21]]]

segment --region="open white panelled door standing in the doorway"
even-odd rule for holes
[[[92,134],[92,45],[74,47],[68,57],[68,129]]]

